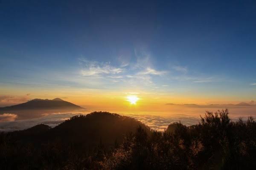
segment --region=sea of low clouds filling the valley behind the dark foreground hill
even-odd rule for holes
[[[85,115],[87,113],[50,113],[34,119],[15,120],[17,118],[16,114],[3,113],[0,114],[0,131],[23,130],[38,124],[45,124],[51,127],[55,127],[61,122],[70,119],[70,117],[81,114]],[[159,116],[160,114],[156,113],[121,113],[120,115],[130,116],[134,119],[139,120],[145,125],[148,125],[151,129],[158,131],[164,131],[168,127],[168,125],[173,122],[181,122],[183,125],[190,126],[198,124],[201,119],[199,114],[169,114],[167,116]],[[247,116],[250,115],[244,115],[243,118],[247,119]],[[239,117],[241,117],[241,115],[230,115],[230,118],[234,121],[236,121]]]

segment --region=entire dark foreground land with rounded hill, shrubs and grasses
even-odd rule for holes
[[[164,133],[125,116],[91,113],[52,129],[0,135],[0,170],[254,170],[255,134],[252,117],[231,122],[228,110],[207,112],[190,127],[172,123]]]

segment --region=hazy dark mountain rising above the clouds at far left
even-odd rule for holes
[[[62,99],[33,99],[18,105],[0,108],[1,111],[31,110],[31,109],[81,109],[80,106]]]

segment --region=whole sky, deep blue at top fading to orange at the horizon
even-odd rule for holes
[[[255,47],[255,0],[1,0],[0,107],[248,102]]]

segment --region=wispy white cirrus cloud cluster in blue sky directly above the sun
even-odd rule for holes
[[[80,65],[83,67],[80,70],[80,75],[90,82],[99,82],[107,87],[113,87],[113,83],[117,85],[136,87],[154,88],[154,79],[152,76],[162,76],[167,71],[159,71],[151,65],[148,56],[139,57],[136,62],[120,65],[111,65],[110,62],[100,63],[97,61],[89,61],[84,58],[79,59]],[[98,79],[98,80],[96,80]],[[111,88],[110,87],[110,88]]]

